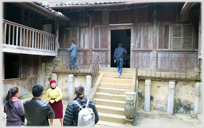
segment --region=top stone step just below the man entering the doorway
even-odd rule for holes
[[[132,79],[133,74],[130,73],[122,73],[120,76],[117,73],[104,73],[103,77],[111,77],[111,78],[120,78],[120,79]]]

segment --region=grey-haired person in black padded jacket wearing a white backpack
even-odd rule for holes
[[[75,95],[66,108],[63,126],[93,126],[99,121],[95,104],[84,97],[85,88],[82,83],[75,85]]]

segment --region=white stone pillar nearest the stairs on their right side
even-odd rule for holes
[[[144,111],[150,111],[150,88],[151,79],[145,79],[145,101],[144,101]]]

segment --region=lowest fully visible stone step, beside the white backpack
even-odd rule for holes
[[[125,124],[125,116],[117,114],[98,113],[101,121]]]

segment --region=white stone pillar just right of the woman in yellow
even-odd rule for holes
[[[69,102],[74,99],[74,75],[68,75],[68,100]]]

